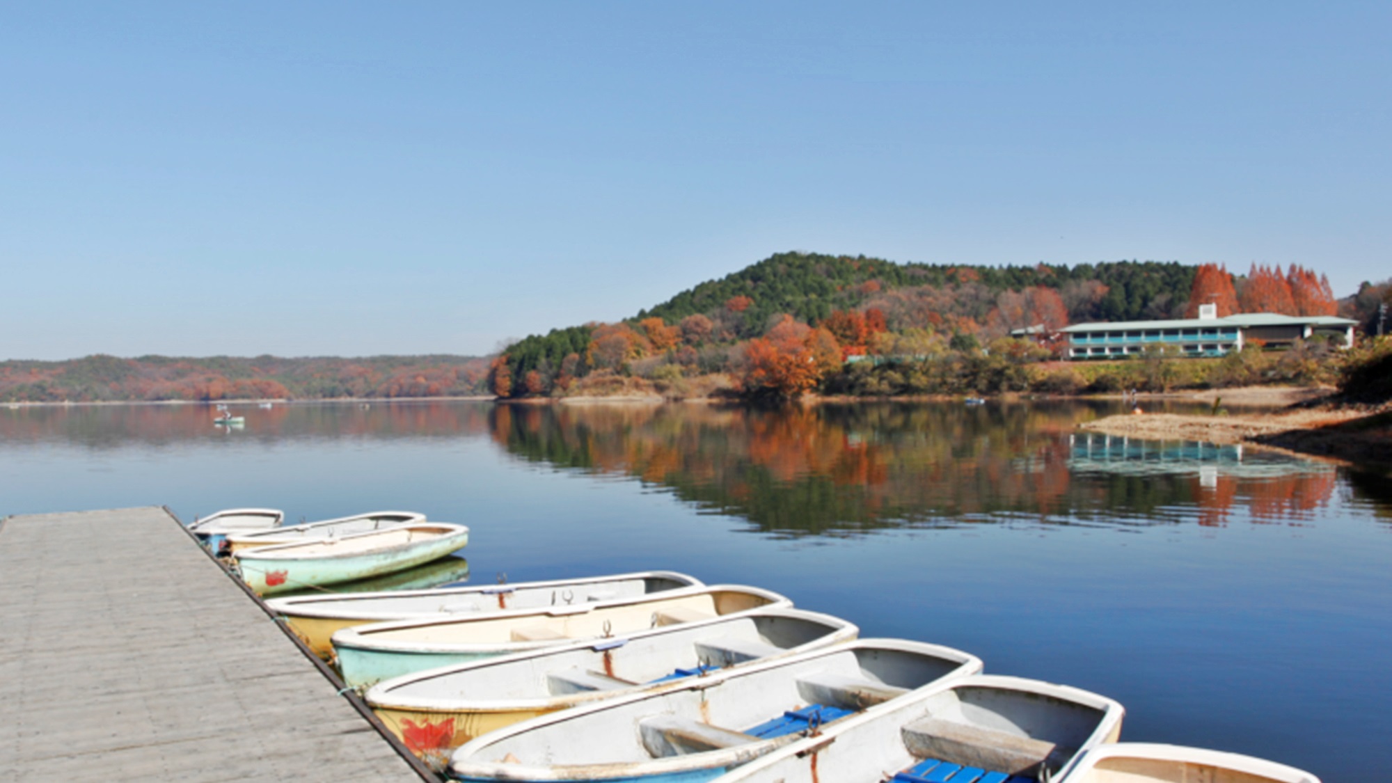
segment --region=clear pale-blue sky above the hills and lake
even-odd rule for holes
[[[1392,276],[1392,3],[6,3],[0,358],[487,352],[773,252]]]

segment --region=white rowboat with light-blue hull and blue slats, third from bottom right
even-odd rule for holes
[[[980,670],[979,658],[945,646],[845,642],[523,720],[457,750],[450,775],[475,782],[706,782]]]

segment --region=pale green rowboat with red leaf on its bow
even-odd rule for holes
[[[306,585],[351,582],[438,560],[469,543],[469,528],[412,522],[383,531],[278,543],[234,555],[242,580],[258,595]]]

